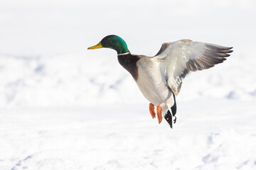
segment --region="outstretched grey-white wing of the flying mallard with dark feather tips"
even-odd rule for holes
[[[178,95],[182,79],[188,72],[208,69],[223,62],[233,47],[223,47],[192,40],[165,42],[154,59],[160,64],[160,71],[166,85]]]

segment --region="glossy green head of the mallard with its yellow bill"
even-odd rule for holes
[[[97,45],[88,47],[90,49],[97,49],[101,47],[111,48],[117,51],[117,55],[129,52],[126,42],[117,35],[107,35]]]

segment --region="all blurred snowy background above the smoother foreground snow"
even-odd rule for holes
[[[255,1],[0,4],[1,107],[146,102],[114,51],[87,50],[109,34],[149,56],[182,38],[233,46],[223,64],[185,79],[178,100],[255,97]]]

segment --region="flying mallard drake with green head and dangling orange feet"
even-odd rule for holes
[[[134,55],[118,35],[107,35],[97,45],[87,49],[102,47],[117,52],[119,64],[132,75],[139,90],[149,101],[151,117],[157,117],[159,124],[164,117],[170,128],[176,123],[176,96],[181,91],[183,79],[190,72],[222,63],[233,52],[233,47],[183,39],[164,42],[153,57]]]

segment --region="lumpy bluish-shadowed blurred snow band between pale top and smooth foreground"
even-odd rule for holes
[[[113,56],[0,55],[0,106],[95,106],[146,103],[132,77]],[[255,63],[235,52],[224,63],[191,73],[178,101],[255,98]]]

